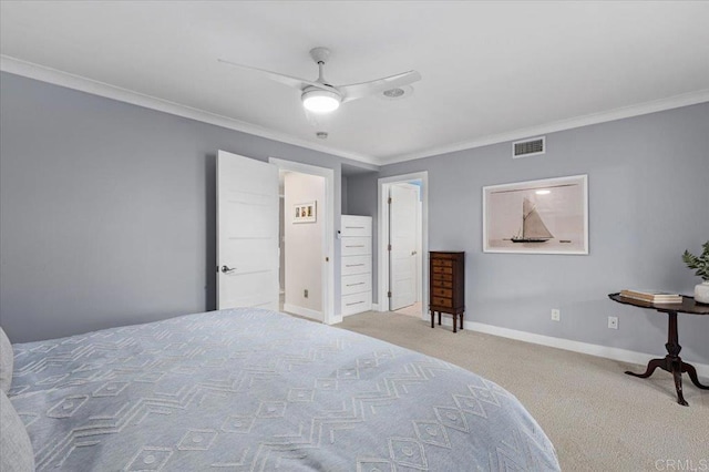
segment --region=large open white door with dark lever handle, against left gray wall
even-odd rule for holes
[[[217,308],[278,310],[278,167],[217,154]]]

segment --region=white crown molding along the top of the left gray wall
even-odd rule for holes
[[[292,137],[290,135],[246,123],[240,120],[210,113],[176,102],[171,102],[168,100],[158,99],[156,96],[135,92],[133,90],[122,89],[120,86],[88,79],[82,75],[71,74],[58,69],[22,61],[10,55],[0,54],[0,71],[9,72],[16,75],[22,75],[29,79],[34,79],[41,82],[47,82],[68,89],[78,90],[80,92],[90,93],[92,95],[117,100],[120,102],[143,106],[158,112],[199,121],[203,123],[214,124],[229,130],[240,131],[243,133],[278,141],[280,143],[292,144],[294,146],[305,147],[339,157],[346,157],[353,161],[363,162],[366,164],[379,165],[378,160],[364,156],[362,154],[345,152],[328,146],[314,144],[309,141]]]

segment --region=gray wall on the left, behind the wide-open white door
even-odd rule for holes
[[[13,342],[214,309],[217,150],[333,168],[339,228],[348,160],[8,73],[0,86],[0,322]]]

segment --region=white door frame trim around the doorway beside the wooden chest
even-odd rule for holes
[[[407,183],[410,181],[421,181],[421,319],[425,319],[429,307],[429,271],[425,269],[429,264],[429,172],[414,172],[411,174],[393,175],[382,177],[377,182],[377,202],[379,204],[378,227],[379,240],[377,244],[377,300],[379,311],[389,311],[389,256],[387,246],[389,244],[389,205],[388,195],[392,184]]]

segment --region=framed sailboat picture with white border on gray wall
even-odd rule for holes
[[[483,187],[483,252],[588,254],[588,176]]]

